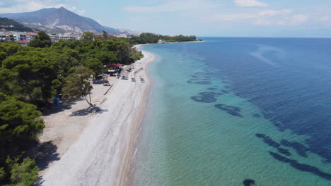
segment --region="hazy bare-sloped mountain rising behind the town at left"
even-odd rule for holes
[[[44,30],[49,33],[76,33],[86,31],[100,33],[103,30],[110,34],[135,34],[131,30],[119,30],[104,27],[91,18],[79,16],[66,8],[44,8],[39,11],[26,13],[0,13],[0,17],[11,18],[35,30]]]

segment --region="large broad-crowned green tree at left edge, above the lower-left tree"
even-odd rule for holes
[[[52,56],[61,54],[20,51],[2,61],[2,66],[16,74],[16,85],[21,87],[23,97],[28,97],[33,103],[47,101],[52,97],[52,81],[57,79],[59,63],[62,62],[52,60]]]

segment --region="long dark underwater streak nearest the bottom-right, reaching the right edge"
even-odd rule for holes
[[[278,161],[284,162],[284,163],[290,163],[290,165],[300,171],[313,173],[315,175],[320,176],[321,178],[324,178],[326,180],[331,180],[331,174],[325,173],[323,171],[320,171],[317,167],[309,166],[307,164],[298,163],[298,161],[294,159],[288,159],[284,156],[281,156],[280,154],[274,153],[272,151],[269,151],[269,154],[274,157],[274,159],[277,159]]]

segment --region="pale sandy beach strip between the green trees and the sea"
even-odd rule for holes
[[[155,59],[142,52],[144,58],[133,64],[127,80],[108,77],[109,91],[109,86],[93,85],[94,111],[81,100],[43,116],[40,142],[56,145],[59,160],[40,172],[40,185],[126,185],[150,85],[146,69]]]

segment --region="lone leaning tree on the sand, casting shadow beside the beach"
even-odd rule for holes
[[[81,67],[76,69],[76,72],[73,75],[66,77],[62,89],[64,99],[67,99],[68,102],[70,102],[84,98],[90,106],[93,106],[91,102],[91,90],[93,87],[89,80],[92,74],[93,71],[91,69]],[[87,96],[89,99],[87,99]]]

